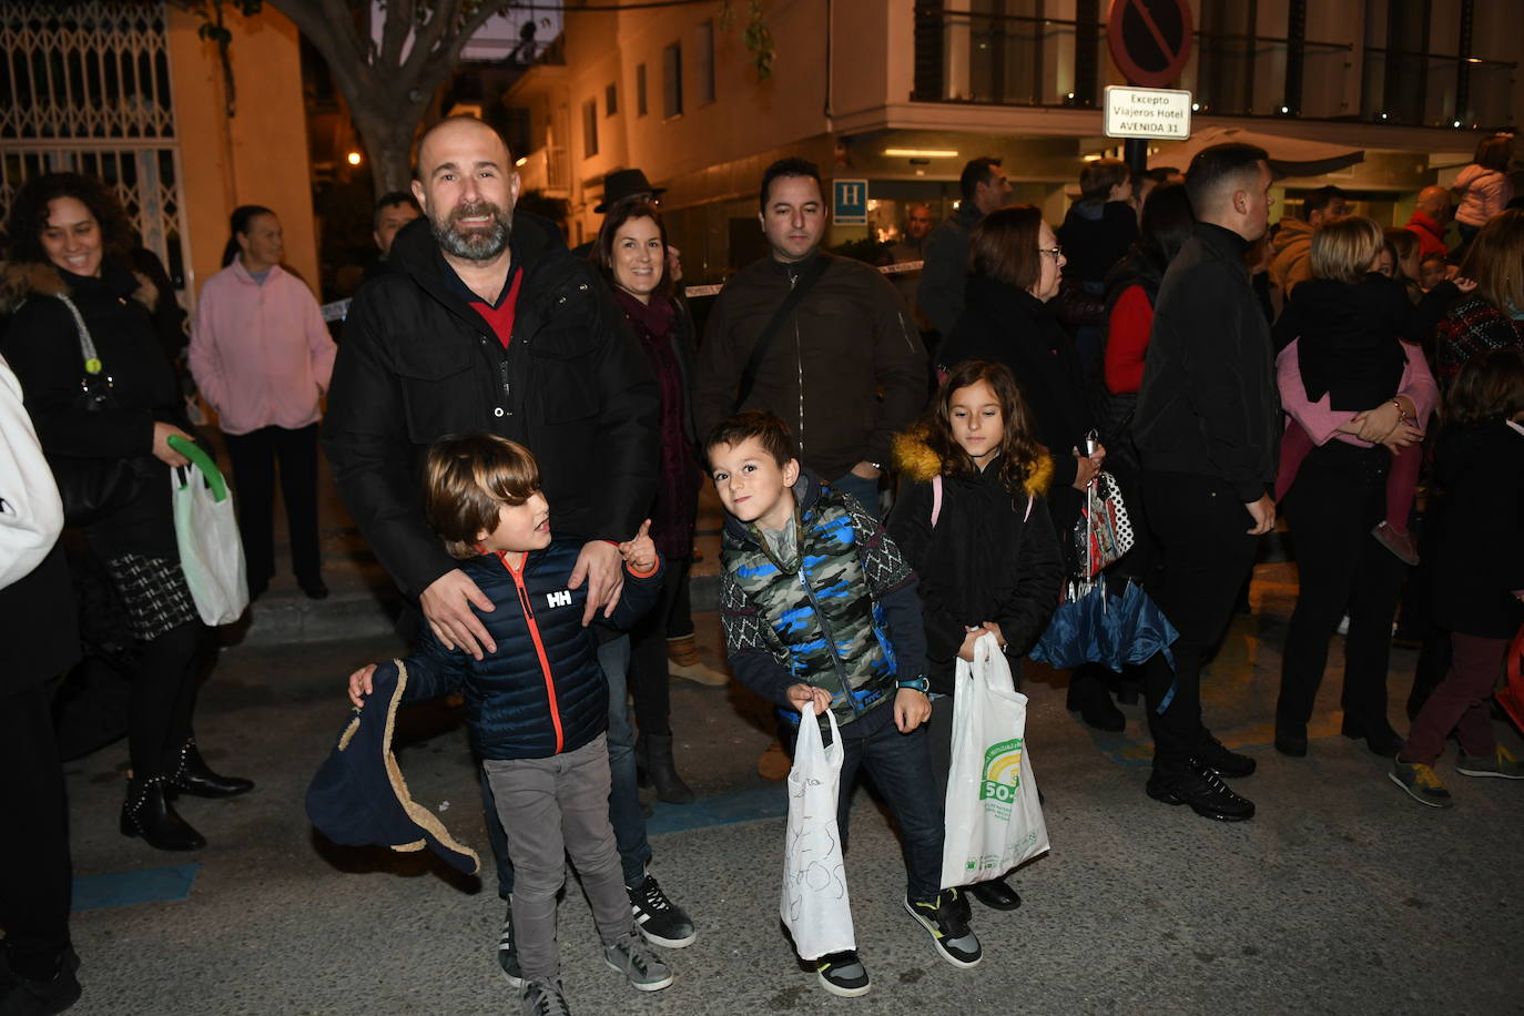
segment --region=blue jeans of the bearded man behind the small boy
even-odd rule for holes
[[[608,772],[613,789],[608,795],[608,821],[614,827],[619,864],[625,885],[640,885],[651,861],[646,820],[640,813],[640,788],[636,784],[636,734],[629,727],[626,681],[629,675],[629,635],[620,635],[597,647],[597,663],[608,678]],[[486,838],[497,861],[497,894],[504,900],[514,893],[514,862],[507,859],[507,838],[497,816],[497,803],[488,784],[486,771],[477,766],[482,780],[482,809],[486,812]],[[940,850],[940,845],[937,847]],[[940,861],[939,861],[940,865]],[[940,867],[937,868],[940,877]]]

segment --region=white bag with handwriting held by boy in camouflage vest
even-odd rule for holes
[[[831,748],[820,737],[814,705],[799,720],[794,768],[788,774],[788,838],[783,841],[783,897],[779,914],[802,960],[856,949],[852,900],[837,830],[841,737],[831,720]]]

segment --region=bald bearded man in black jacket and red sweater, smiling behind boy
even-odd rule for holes
[[[497,131],[471,117],[433,126],[419,140],[413,193],[424,216],[402,227],[392,271],[351,306],[323,446],[381,565],[418,597],[447,649],[480,660],[497,646],[471,608],[492,611],[492,603],[424,516],[428,446],[486,431],[535,452],[552,532],[585,541],[570,586],[588,583],[587,625],[599,608],[613,614],[622,588],[616,542],[636,535],[655,497],[658,395],[593,268],[567,251],[555,225],[514,212],[518,174]],[[610,713],[617,705],[622,717],[617,684]],[[643,871],[651,847],[628,751],[611,769],[610,818],[642,934],[687,944],[692,922]],[[489,806],[500,893],[509,896],[494,818]],[[514,981],[511,931],[504,922],[498,961]]]

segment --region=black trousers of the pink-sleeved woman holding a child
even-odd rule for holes
[[[1367,733],[1387,731],[1387,663],[1404,564],[1370,535],[1385,516],[1385,448],[1330,440],[1314,448],[1286,492],[1297,545],[1298,593],[1280,667],[1276,731],[1305,737],[1323,682],[1329,640],[1349,606],[1344,714]]]

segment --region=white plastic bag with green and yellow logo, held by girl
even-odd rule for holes
[[[994,635],[957,661],[942,888],[998,879],[1047,851],[1047,824],[1027,754],[1027,696]]]

